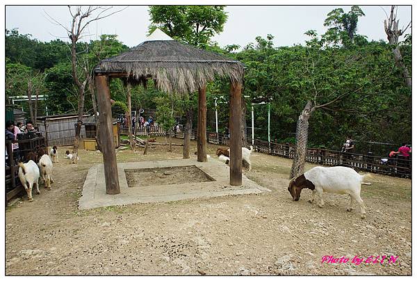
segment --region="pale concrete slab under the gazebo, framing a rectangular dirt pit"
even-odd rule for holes
[[[124,170],[131,169],[179,166],[195,166],[213,178],[214,181],[129,187],[124,172]],[[207,162],[197,162],[197,159],[174,159],[117,163],[117,170],[119,173],[120,194],[108,195],[106,194],[103,164],[90,168],[85,178],[83,195],[79,200],[79,209],[270,191],[268,188],[259,186],[259,184],[247,179],[245,175],[242,175],[242,186],[231,186],[229,184],[229,166],[217,159],[208,159]]]

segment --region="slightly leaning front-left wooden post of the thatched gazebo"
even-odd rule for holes
[[[117,173],[116,150],[113,140],[113,122],[111,120],[110,89],[108,77],[95,77],[97,102],[99,104],[99,122],[101,149],[104,161],[104,176],[106,178],[106,193],[119,194],[119,176]]]

